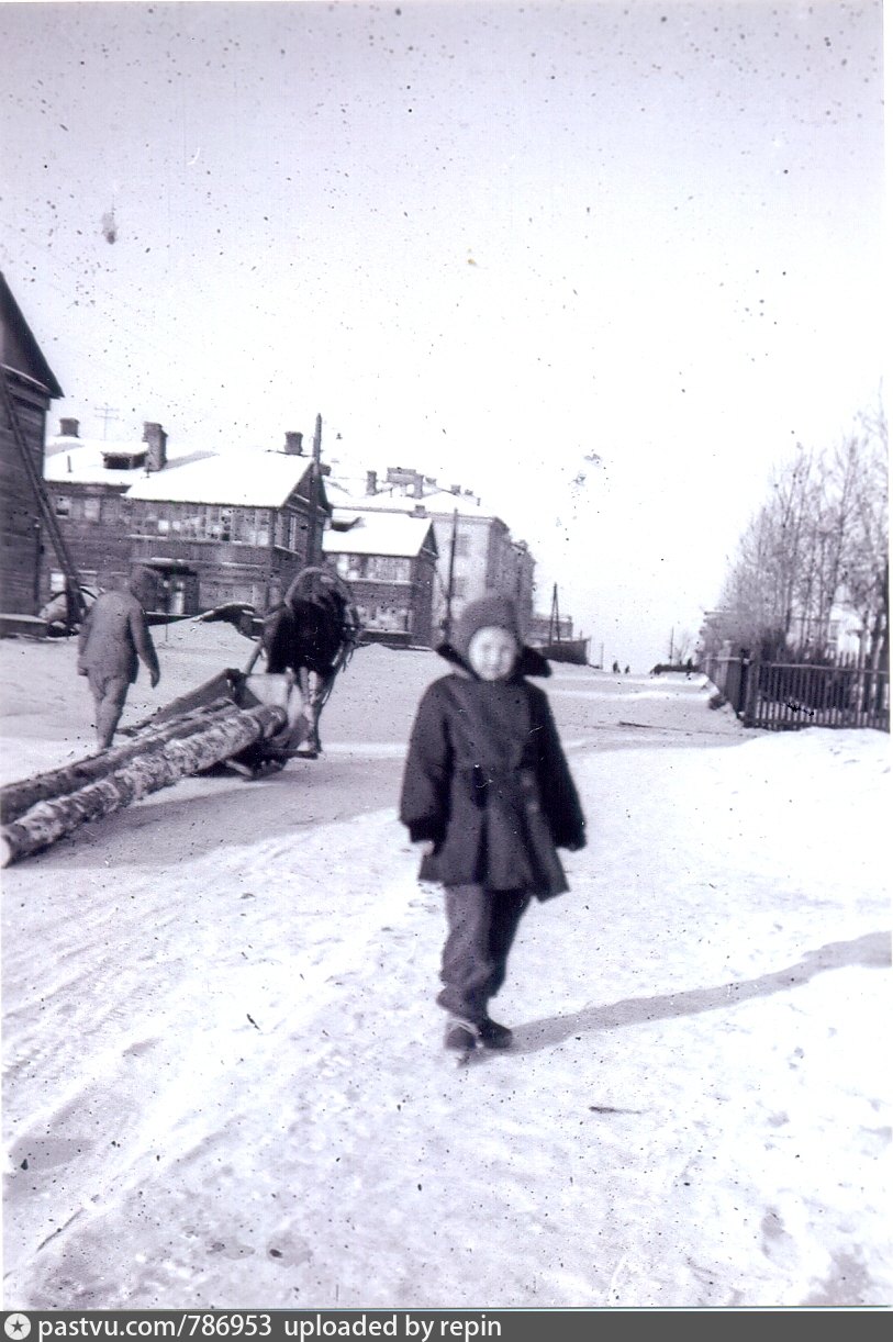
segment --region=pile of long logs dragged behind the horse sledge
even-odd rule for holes
[[[281,707],[232,699],[144,727],[126,745],[0,788],[0,867],[46,848],[79,825],[201,773],[282,731]]]

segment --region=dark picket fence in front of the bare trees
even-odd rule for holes
[[[833,663],[761,662],[743,652],[737,658],[706,658],[701,670],[745,727],[890,730],[889,671],[857,658]]]

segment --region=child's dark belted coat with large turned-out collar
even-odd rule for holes
[[[568,888],[556,848],[581,848],[585,820],[549,701],[525,679],[551,675],[524,648],[509,680],[481,680],[450,644],[455,666],[424,691],[400,797],[412,841],[434,840],[423,880],[526,890]]]

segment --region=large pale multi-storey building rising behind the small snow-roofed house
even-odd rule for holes
[[[336,493],[336,488],[338,493]],[[365,490],[333,483],[334,506],[361,513],[403,513],[434,523],[438,561],[432,625],[442,636],[465,605],[491,589],[514,597],[522,629],[533,615],[536,561],[525,541],[514,541],[506,523],[459,484],[442,488],[408,467],[389,467],[384,480],[368,471]]]

